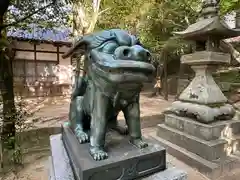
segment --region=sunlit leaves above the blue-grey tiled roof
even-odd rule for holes
[[[67,26],[70,12],[70,7],[60,2],[56,5],[52,0],[24,0],[20,3],[13,1],[8,8],[6,20],[7,24],[12,24],[11,30],[20,27],[31,31],[33,29],[30,24],[48,29]]]

